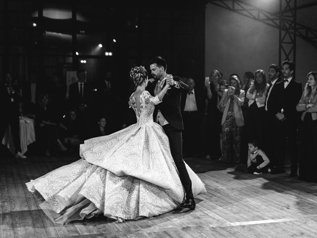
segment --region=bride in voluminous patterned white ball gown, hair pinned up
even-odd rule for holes
[[[40,207],[55,224],[101,213],[118,222],[149,218],[184,202],[168,138],[153,121],[155,105],[169,85],[153,97],[145,90],[148,73],[143,66],[133,67],[130,78],[136,85],[132,97],[137,123],[85,140],[80,145],[80,160],[26,183],[31,192],[44,198]],[[185,165],[194,196],[206,192],[204,183]]]

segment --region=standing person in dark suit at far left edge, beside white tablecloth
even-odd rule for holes
[[[5,129],[9,124],[13,136],[13,144],[15,149],[15,158],[26,159],[26,156],[21,153],[20,141],[20,102],[21,94],[15,91],[12,84],[12,74],[10,72],[5,74],[4,84],[0,84],[0,103],[2,105],[3,114],[0,117],[0,139],[5,133]]]

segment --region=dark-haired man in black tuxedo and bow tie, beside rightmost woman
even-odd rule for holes
[[[277,113],[277,118],[285,123],[286,138],[291,155],[290,177],[297,176],[298,169],[298,150],[296,144],[296,132],[300,115],[296,111],[296,106],[302,96],[302,84],[293,78],[295,64],[293,61],[282,62],[282,75],[284,82],[284,99],[282,112]],[[284,138],[284,141],[286,141]],[[284,164],[282,164],[284,166]]]

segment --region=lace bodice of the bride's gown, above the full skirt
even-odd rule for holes
[[[153,123],[153,112],[155,109],[154,105],[161,103],[161,101],[159,101],[159,97],[153,97],[148,91],[145,90],[140,94],[139,100],[138,97],[134,97],[134,99],[137,106],[135,109],[135,114],[138,121],[137,123]]]

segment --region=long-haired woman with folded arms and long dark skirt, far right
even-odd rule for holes
[[[307,74],[307,84],[296,110],[302,113],[299,179],[317,182],[317,72]]]

